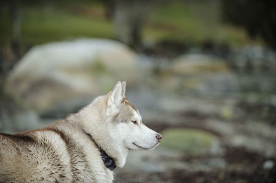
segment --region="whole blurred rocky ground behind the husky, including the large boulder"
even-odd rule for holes
[[[16,100],[0,97],[0,130],[46,126],[126,78],[126,96],[163,139],[130,152],[115,182],[275,182],[275,58],[261,47],[146,56],[99,39],[34,47],[8,78]]]

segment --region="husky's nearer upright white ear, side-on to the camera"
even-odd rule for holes
[[[115,116],[119,113],[121,101],[125,98],[126,82],[118,81],[108,93],[106,116]]]

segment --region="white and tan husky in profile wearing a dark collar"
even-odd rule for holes
[[[129,150],[153,149],[146,127],[118,81],[76,114],[43,129],[0,133],[0,182],[112,182]]]

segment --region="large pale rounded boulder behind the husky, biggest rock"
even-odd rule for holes
[[[137,55],[107,39],[77,39],[32,47],[8,77],[6,89],[36,111],[72,109],[107,92],[117,80],[136,80]],[[70,110],[70,109],[68,109]]]

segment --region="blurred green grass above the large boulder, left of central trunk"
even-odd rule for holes
[[[112,25],[99,17],[72,14],[66,9],[50,10],[35,7],[23,8],[21,12],[23,44],[34,45],[49,41],[74,39],[77,37],[112,38]],[[3,27],[0,41],[10,41],[10,21],[8,13],[0,19]]]

